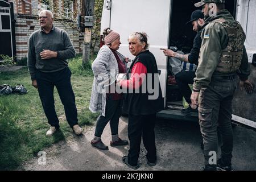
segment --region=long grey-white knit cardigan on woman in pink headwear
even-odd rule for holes
[[[117,55],[127,68],[125,56],[119,52],[117,52]],[[92,71],[94,78],[89,109],[93,113],[100,112],[101,115],[105,116],[106,88],[113,84],[118,76],[117,59],[115,59],[114,53],[108,46],[101,47],[93,61]]]

